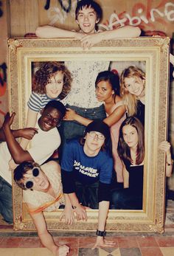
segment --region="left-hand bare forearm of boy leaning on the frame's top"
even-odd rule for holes
[[[38,27],[35,30],[35,35],[38,38],[77,38],[80,39],[83,37],[83,33],[70,31],[70,30],[62,30],[58,27],[52,27],[49,25]]]

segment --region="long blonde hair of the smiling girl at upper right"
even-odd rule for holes
[[[127,69],[122,71],[120,76],[120,95],[122,96],[122,100],[124,101],[128,111],[128,116],[130,117],[136,114],[138,99],[136,95],[130,94],[130,92],[125,88],[126,77],[137,77],[138,79],[145,80],[145,72],[136,66],[129,66]]]

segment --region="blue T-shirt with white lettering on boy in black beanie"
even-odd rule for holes
[[[82,184],[93,184],[96,181],[111,184],[113,159],[106,151],[100,151],[97,156],[87,156],[83,145],[72,139],[63,147],[61,168],[74,172],[74,179]]]

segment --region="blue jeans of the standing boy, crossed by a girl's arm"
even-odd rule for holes
[[[99,108],[79,108],[74,105],[66,105],[66,108],[72,108],[77,114],[82,117],[86,117],[90,120],[103,120],[105,115],[104,105],[100,105]],[[63,121],[61,124],[61,135],[63,140],[66,139],[77,139],[83,137],[86,126],[81,125],[76,121]]]

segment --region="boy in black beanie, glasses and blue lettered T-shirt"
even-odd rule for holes
[[[86,208],[99,209],[94,248],[114,246],[114,243],[104,239],[113,170],[113,159],[105,149],[109,136],[108,125],[101,120],[94,120],[86,127],[85,136],[80,142],[76,139],[66,142],[61,162],[66,200],[62,218],[65,218],[66,224],[72,224],[74,212],[77,220],[87,220]]]

